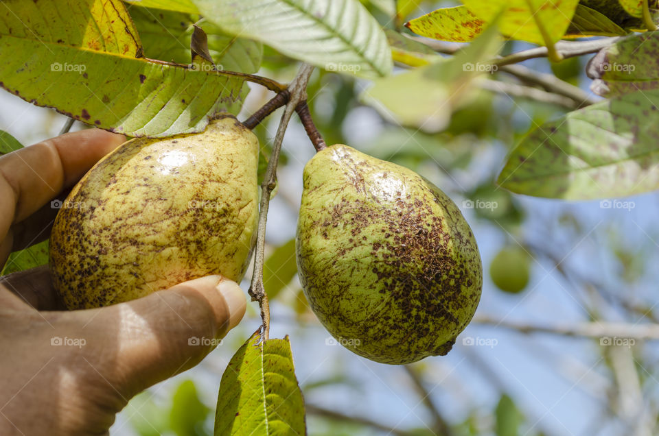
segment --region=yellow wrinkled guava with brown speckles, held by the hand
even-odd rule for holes
[[[240,281],[258,217],[256,136],[223,114],[198,134],[135,138],[78,182],[50,239],[67,306],[143,297],[210,274]]]

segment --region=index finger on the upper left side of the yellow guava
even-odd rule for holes
[[[35,213],[124,141],[123,135],[89,129],[1,156],[0,240],[12,223]]]

